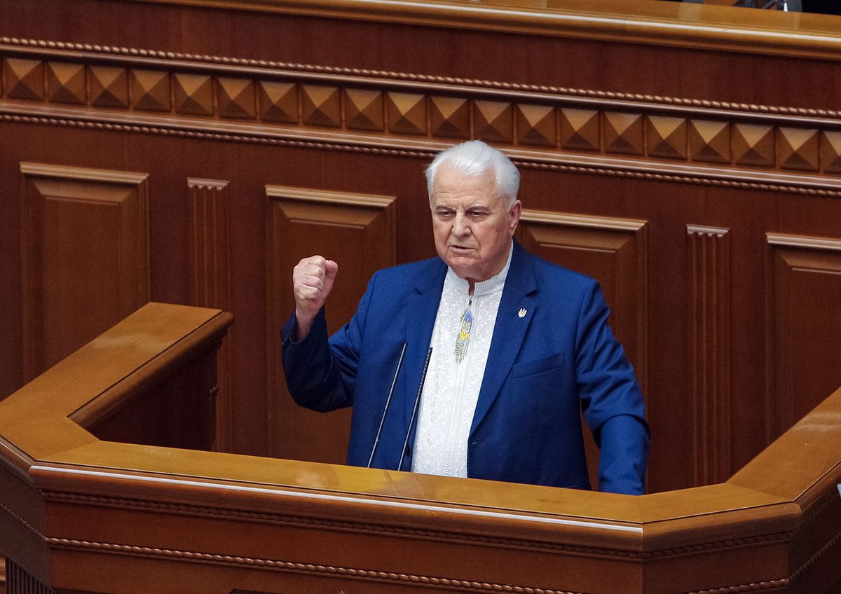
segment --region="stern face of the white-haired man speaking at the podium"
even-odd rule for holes
[[[441,259],[471,288],[498,274],[508,260],[520,201],[507,208],[493,171],[466,176],[444,162],[432,186],[432,232]]]

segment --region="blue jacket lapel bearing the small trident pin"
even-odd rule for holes
[[[514,243],[511,265],[505,278],[500,309],[496,314],[494,336],[490,341],[488,362],[484,368],[484,379],[479,390],[479,401],[473,413],[470,434],[479,427],[485,414],[500,393],[502,382],[508,376],[520,352],[526,330],[532,322],[537,308],[537,282],[534,278],[532,260],[520,244]],[[521,310],[525,310],[521,317]],[[421,360],[421,365],[423,361]]]

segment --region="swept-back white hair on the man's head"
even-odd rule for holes
[[[493,171],[496,191],[500,197],[505,198],[508,208],[514,206],[520,189],[520,171],[501,150],[485,145],[481,140],[452,145],[435,155],[435,159],[426,167],[426,190],[430,202],[438,167],[445,162],[467,176],[480,176],[485,171]]]

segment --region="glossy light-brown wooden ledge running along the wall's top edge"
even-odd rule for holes
[[[172,3],[172,0],[137,1]],[[607,19],[593,18],[590,11],[577,10],[579,7],[570,7],[563,0],[512,0],[507,6],[497,2],[438,4],[398,0],[373,5],[365,0],[340,0],[329,5],[314,0],[178,0],[177,3],[518,34],[559,35],[563,31],[586,39],[705,50],[751,52],[759,46],[769,54],[829,60],[838,60],[841,45],[838,39],[841,27],[827,24],[820,15],[797,14],[797,18],[791,18],[785,13],[762,11],[751,13],[750,23],[745,23],[741,13],[727,8],[722,12],[722,8],[710,6],[696,13],[668,3],[638,5],[623,0],[598,3],[600,11],[613,16]]]

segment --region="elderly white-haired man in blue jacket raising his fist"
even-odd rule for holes
[[[598,284],[513,239],[520,174],[499,150],[452,146],[426,179],[439,257],[375,273],[330,339],[338,265],[315,255],[295,266],[282,335],[295,402],[353,407],[351,465],[373,453],[379,468],[577,489],[590,488],[583,411],[600,444],[600,490],[642,493],[643,398]]]

